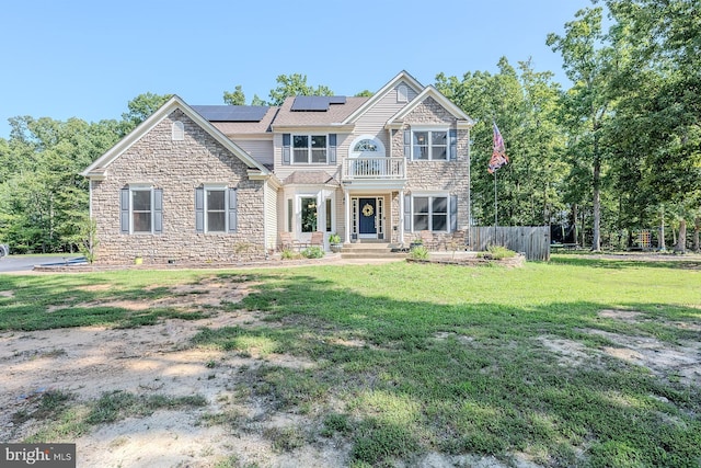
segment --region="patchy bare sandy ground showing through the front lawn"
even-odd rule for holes
[[[120,301],[118,306],[142,309],[183,301],[180,304],[183,307],[207,305],[217,310],[222,301],[240,300],[249,287],[212,279],[204,286],[179,286],[172,297],[158,304]],[[199,293],[182,295],[194,289]],[[621,310],[601,310],[600,317],[629,322],[642,320],[637,312]],[[16,422],[14,415],[34,411],[41,396],[50,390],[73,393],[78,404],[115,390],[173,397],[199,395],[206,398],[205,407],[157,410],[147,416],[92,426],[92,432],[70,441],[77,443],[78,466],[212,467],[229,457],[235,459],[233,466],[242,467],[347,466],[350,449],[347,444],[335,438],[310,440],[318,434],[313,414],[286,413],[254,398],[241,399],[234,395],[242,384],[241,369],[263,364],[313,368],[313,362],[289,355],[262,355],[255,350],[250,355],[241,355],[188,345],[189,339],[203,327],[254,327],[260,326],[263,318],[262,312],[255,311],[218,311],[202,320],[166,320],[138,329],[74,328],[1,333],[0,441],[19,442],[35,433],[42,421]],[[698,384],[701,377],[697,342],[671,345],[650,336],[587,332],[604,334],[614,345],[591,350],[554,336],[541,336],[541,342],[559,356],[562,365],[590,365],[593,358],[609,355],[645,366],[664,378],[676,376],[682,383]],[[227,414],[239,424],[207,423],[217,414]],[[289,450],[277,449],[272,434],[286,430],[302,434],[304,443]],[[535,466],[526,460],[517,465]],[[418,466],[504,467],[490,457],[440,454],[428,454]]]

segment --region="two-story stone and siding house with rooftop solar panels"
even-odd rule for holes
[[[470,219],[473,121],[400,72],[371,98],[279,107],[173,96],[88,167],[99,262],[263,258],[280,232],[407,244]]]

